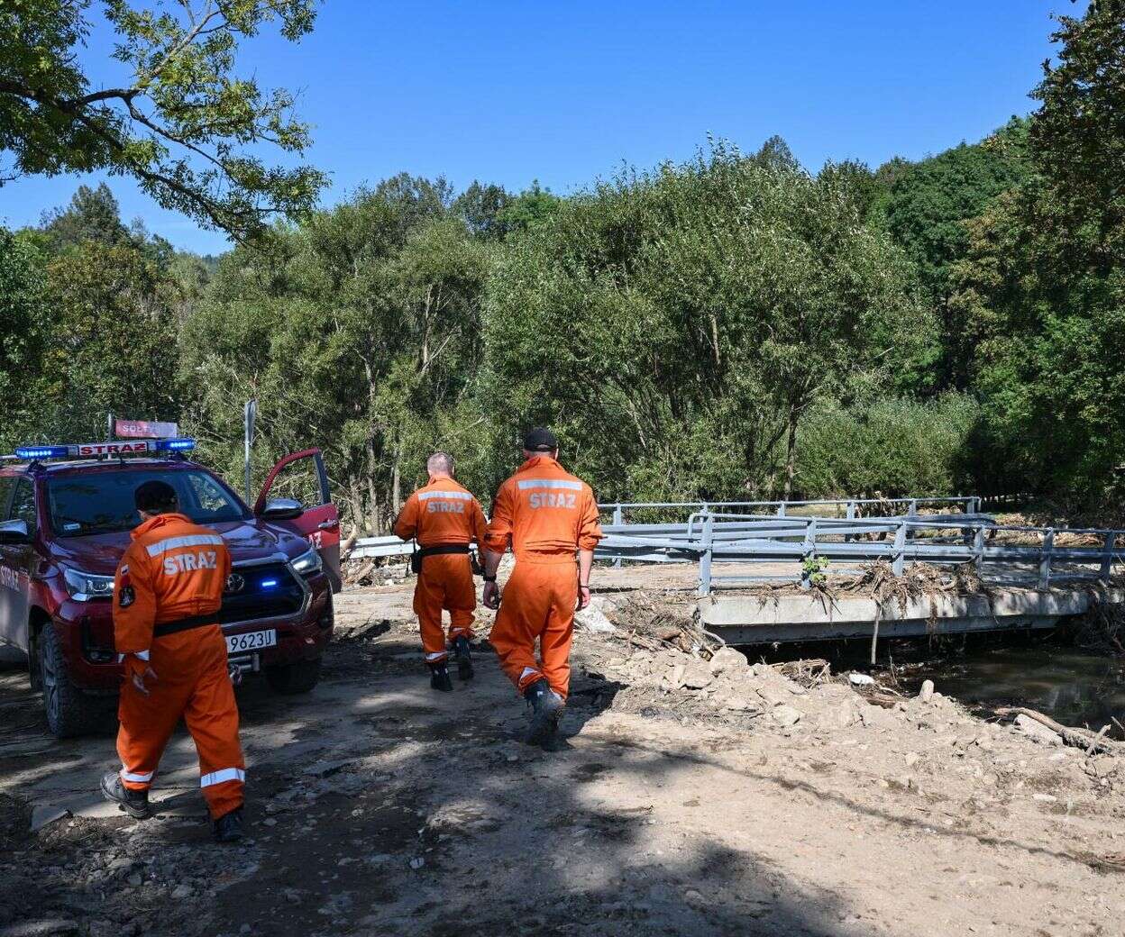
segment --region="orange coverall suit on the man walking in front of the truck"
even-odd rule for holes
[[[230,574],[222,537],[182,514],[161,514],[133,531],[114,582],[114,641],[126,674],[117,733],[122,782],[134,791],[151,786],[182,715],[213,819],[242,805],[245,778],[226,641],[218,624],[160,638],[153,628],[217,613]],[[145,696],[130,677],[150,666],[156,678],[145,682]]]

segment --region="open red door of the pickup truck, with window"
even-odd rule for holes
[[[328,493],[320,449],[294,452],[273,466],[254,503],[254,514],[269,516],[271,524],[308,540],[324,561],[332,591],[340,592],[340,514]]]

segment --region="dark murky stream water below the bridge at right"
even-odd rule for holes
[[[1063,726],[1095,731],[1109,724],[1117,738],[1125,723],[1125,660],[1076,647],[969,646],[963,654],[920,663],[900,676],[903,691],[934,681],[946,696],[987,708],[1025,705]]]

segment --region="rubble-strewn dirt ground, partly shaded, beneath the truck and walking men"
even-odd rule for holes
[[[50,740],[0,672],[0,937],[1122,933],[1116,751],[940,687],[752,665],[682,594],[614,585],[576,636],[569,748],[546,754],[519,740],[487,614],[477,679],[439,695],[408,585],[339,598],[312,695],[240,691],[234,848],[209,841],[189,740],[134,822],[90,793],[111,737]]]

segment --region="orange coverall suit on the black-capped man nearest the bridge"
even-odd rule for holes
[[[496,493],[485,547],[503,553],[511,542],[515,569],[488,641],[521,693],[547,677],[566,700],[578,604],[575,552],[593,550],[602,537],[594,493],[550,456],[528,459]]]

